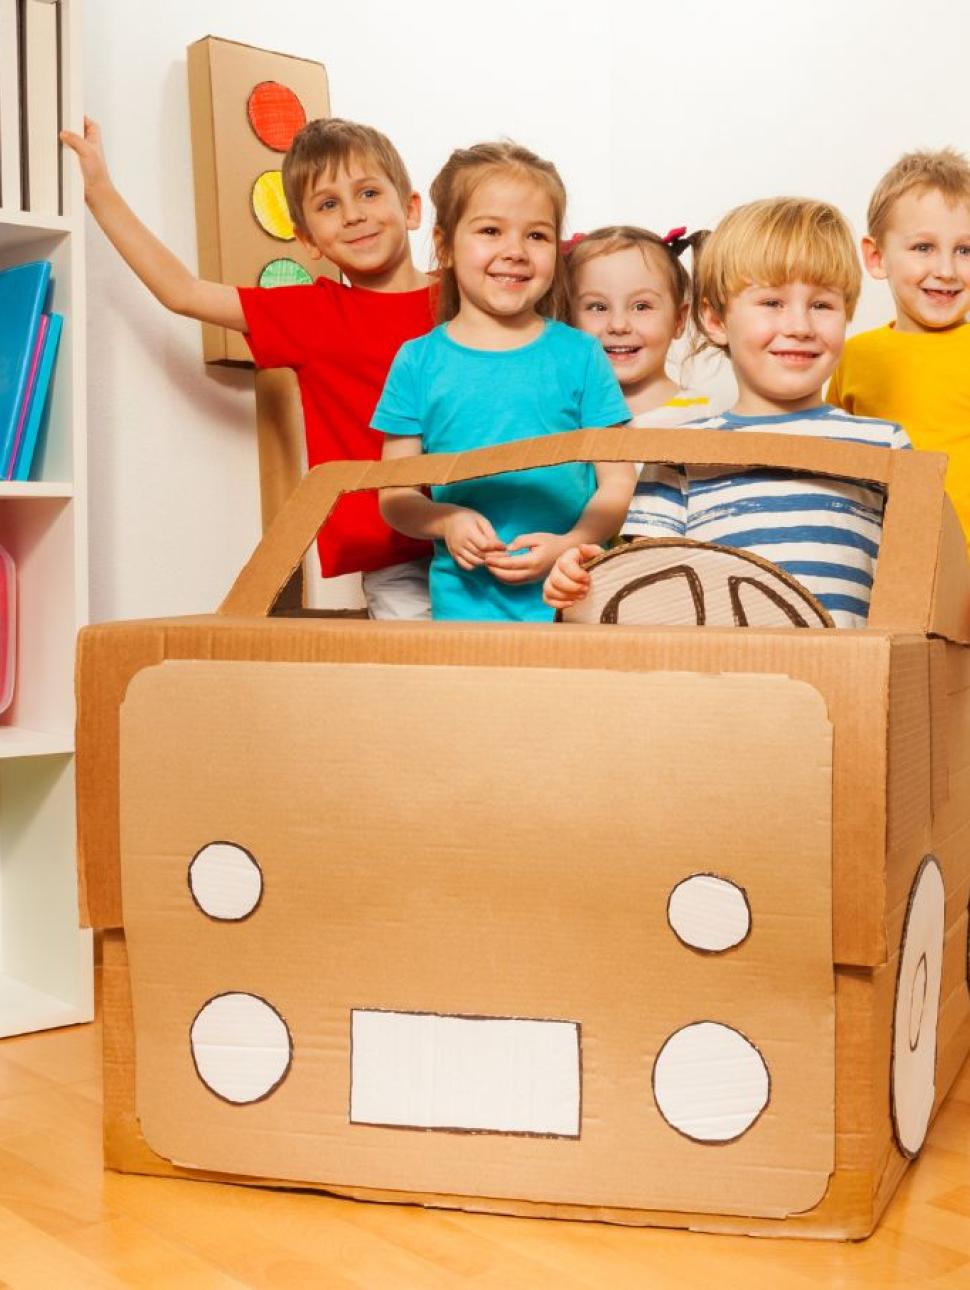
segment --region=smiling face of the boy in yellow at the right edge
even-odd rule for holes
[[[943,332],[970,313],[970,203],[904,192],[882,237],[862,249],[872,276],[889,281],[899,332]]]

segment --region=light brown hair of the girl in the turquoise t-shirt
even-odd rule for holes
[[[544,161],[519,143],[503,141],[500,143],[476,143],[471,148],[455,148],[431,183],[431,200],[435,204],[435,254],[439,267],[437,316],[440,322],[453,319],[460,304],[458,281],[451,264],[455,228],[467,210],[475,190],[485,179],[497,174],[531,179],[548,195],[553,212],[556,270],[548,292],[537,303],[535,310],[538,313],[553,319],[566,313],[566,270],[560,249],[562,221],[566,213],[565,186],[551,161]]]

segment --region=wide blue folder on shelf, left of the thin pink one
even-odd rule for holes
[[[0,464],[6,466],[17,442],[40,317],[50,288],[46,259],[0,270]],[[35,369],[39,370],[39,369]]]

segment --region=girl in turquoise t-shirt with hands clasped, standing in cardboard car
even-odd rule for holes
[[[454,453],[629,413],[602,347],[555,321],[566,195],[555,166],[512,143],[453,152],[431,187],[441,324],[395,359],[373,418],[384,458]],[[579,542],[611,537],[633,467],[586,463],[432,489],[386,489],[384,519],[433,538],[433,618],[549,620],[542,582]]]

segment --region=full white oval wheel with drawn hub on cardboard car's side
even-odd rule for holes
[[[924,1144],[936,1095],[943,909],[943,876],[927,855],[909,890],[893,1014],[893,1133],[909,1157]]]

